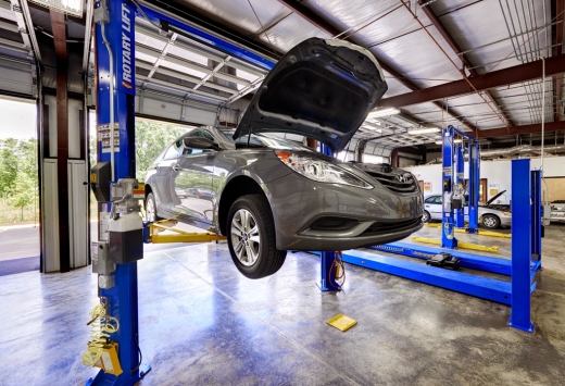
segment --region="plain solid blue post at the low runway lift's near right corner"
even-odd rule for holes
[[[530,160],[512,160],[512,300],[508,325],[533,333],[531,323]]]

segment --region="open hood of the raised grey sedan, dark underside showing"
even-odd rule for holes
[[[364,48],[311,38],[288,51],[255,92],[234,139],[293,133],[343,150],[387,91],[382,70]]]

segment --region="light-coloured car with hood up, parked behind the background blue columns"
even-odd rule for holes
[[[512,222],[512,215],[510,212],[510,204],[507,203],[493,203],[506,190],[502,190],[497,196],[492,197],[487,203],[479,203],[479,223],[482,223],[485,227],[495,229],[501,226],[510,226]],[[469,208],[465,207],[465,221],[468,221]],[[424,215],[422,221],[424,223],[430,220],[440,220],[442,213],[442,197],[441,195],[426,196],[424,199]]]

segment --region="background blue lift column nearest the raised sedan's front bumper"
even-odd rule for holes
[[[443,248],[457,248],[457,239],[455,238],[455,223],[453,217],[453,210],[447,211],[447,198],[451,197],[452,185],[453,185],[453,140],[454,132],[453,126],[449,126],[442,132],[443,145],[442,151],[442,212],[441,217],[441,247]]]

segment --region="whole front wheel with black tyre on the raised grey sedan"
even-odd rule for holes
[[[276,248],[275,222],[265,197],[238,198],[229,209],[226,229],[231,260],[243,276],[262,278],[282,266],[287,251]]]

